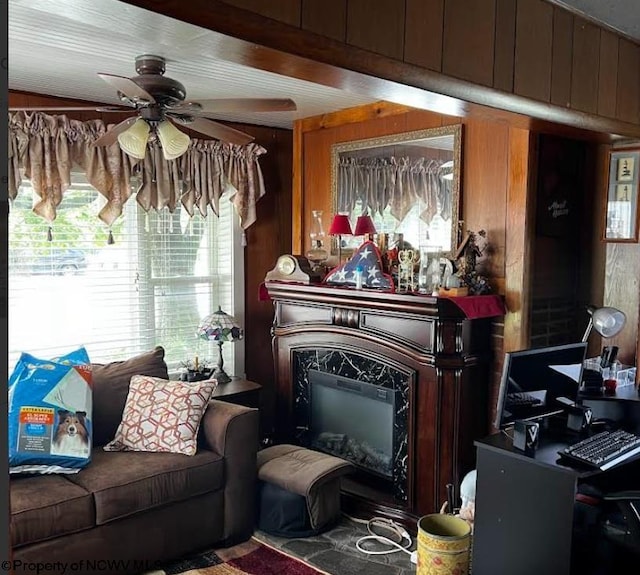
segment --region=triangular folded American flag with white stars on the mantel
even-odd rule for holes
[[[371,241],[364,242],[349,261],[333,268],[323,281],[327,284],[355,287],[357,285],[358,267],[362,268],[362,287],[395,291],[393,278],[383,271],[380,250]]]

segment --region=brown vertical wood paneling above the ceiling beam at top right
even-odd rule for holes
[[[640,46],[545,0],[224,1],[473,84],[640,124]]]

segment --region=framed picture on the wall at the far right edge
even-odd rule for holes
[[[640,148],[612,150],[605,206],[604,240],[637,242],[640,214],[638,184]]]

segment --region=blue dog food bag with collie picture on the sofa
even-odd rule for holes
[[[9,377],[9,473],[77,473],[91,461],[91,364],[84,347],[22,353]]]

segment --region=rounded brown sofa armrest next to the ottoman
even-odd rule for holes
[[[207,447],[224,458],[224,539],[244,541],[253,533],[259,412],[212,400],[202,418]]]

